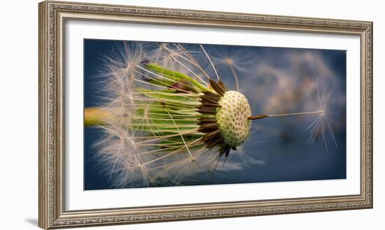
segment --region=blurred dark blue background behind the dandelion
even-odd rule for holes
[[[158,45],[152,43],[150,45]],[[123,41],[85,39],[84,106],[98,106],[105,96],[99,73],[103,57],[113,56]],[[187,44],[194,50],[197,45]],[[318,110],[318,92],[330,94],[326,110],[335,135],[325,132],[325,143],[318,138],[309,143],[309,124],[316,115],[268,117],[255,120],[251,135],[228,161],[232,171],[221,170],[191,185],[346,178],[346,51],[300,48],[204,45],[218,74],[230,89],[235,80],[229,61],[239,77],[239,91],[247,97],[253,115],[295,113]],[[199,57],[197,57],[198,59]],[[199,59],[198,59],[199,61]],[[201,64],[207,65],[202,61]],[[214,76],[214,71],[209,70]],[[94,143],[103,135],[100,129],[84,129],[84,189],[111,189],[103,164],[94,159]],[[318,137],[318,136],[317,136]],[[237,167],[237,164],[239,167]]]

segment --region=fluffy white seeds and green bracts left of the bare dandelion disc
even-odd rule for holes
[[[178,44],[151,50],[135,42],[106,58],[109,96],[101,108],[111,119],[99,126],[104,137],[95,157],[113,186],[182,185],[228,156],[230,146],[212,134],[210,123],[227,89],[209,82],[197,60]],[[225,168],[234,167],[230,162]]]

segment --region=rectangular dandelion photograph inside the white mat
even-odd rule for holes
[[[84,42],[84,189],[346,179],[346,50]]]

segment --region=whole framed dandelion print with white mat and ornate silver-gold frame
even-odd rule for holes
[[[372,208],[372,22],[39,4],[39,227]]]

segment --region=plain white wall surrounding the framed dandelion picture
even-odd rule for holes
[[[95,0],[97,1],[97,0]],[[383,229],[385,16],[381,1],[97,1],[374,22],[374,209],[221,220],[139,224],[98,229]],[[38,1],[6,1],[0,8],[0,229],[37,229]],[[5,127],[5,128],[4,128]],[[97,228],[89,228],[97,229]]]

